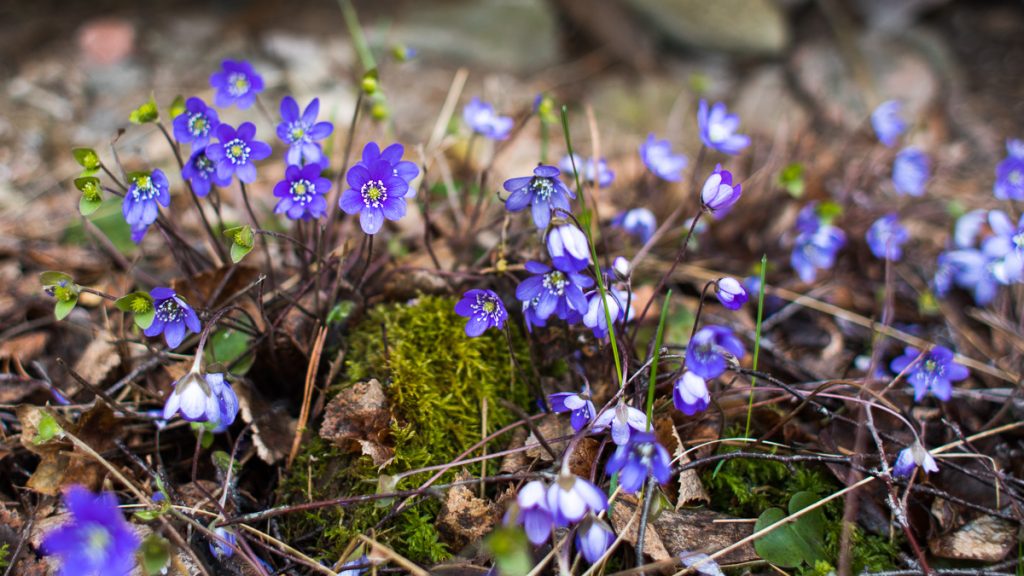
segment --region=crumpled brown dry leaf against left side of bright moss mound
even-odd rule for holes
[[[394,457],[389,446],[391,411],[384,387],[376,379],[341,390],[327,405],[321,438],[334,445],[370,456],[384,467]]]

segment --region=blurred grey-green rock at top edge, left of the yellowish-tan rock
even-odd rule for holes
[[[558,23],[544,0],[418,2],[395,23],[389,41],[424,58],[530,72],[559,64]]]

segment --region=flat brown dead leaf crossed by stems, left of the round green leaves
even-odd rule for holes
[[[616,533],[622,533],[637,509],[637,499],[624,496],[615,502],[611,523]],[[662,510],[647,526],[644,536],[644,553],[653,561],[668,560],[685,551],[714,553],[748,537],[754,524],[728,522],[730,519],[702,508]],[[722,522],[725,521],[725,522]],[[625,533],[624,539],[634,546],[637,541],[639,519]],[[719,560],[719,564],[739,564],[758,560],[750,543],[736,548]]]

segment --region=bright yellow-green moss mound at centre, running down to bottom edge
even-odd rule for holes
[[[370,378],[382,382],[394,416],[394,459],[378,470],[368,456],[349,455],[315,439],[304,447],[283,482],[283,500],[369,494],[377,490],[381,475],[453,460],[480,440],[484,399],[486,433],[514,419],[499,400],[525,406],[529,392],[525,382],[515,378],[504,336],[492,330],[468,338],[463,331],[465,319],[455,314],[455,299],[436,296],[423,296],[412,304],[380,304],[352,329],[345,378],[339,388]],[[527,358],[522,339],[516,335],[513,341],[517,357]],[[488,450],[498,448],[489,446]],[[479,465],[461,469],[480,474]],[[415,475],[396,489],[415,488],[426,478],[426,474]],[[421,499],[376,537],[414,562],[444,560],[450,552],[434,529],[438,508],[437,501]],[[290,537],[314,539],[313,549],[337,560],[355,535],[368,533],[390,509],[390,502],[382,502],[315,510],[289,518],[286,529]]]

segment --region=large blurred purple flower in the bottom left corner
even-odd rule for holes
[[[120,576],[135,568],[141,541],[111,492],[93,494],[74,485],[63,495],[71,522],[48,532],[42,552],[60,557],[60,576]]]

